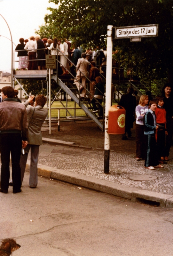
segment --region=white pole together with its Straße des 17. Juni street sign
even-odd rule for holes
[[[158,24],[113,27],[107,26],[107,65],[106,65],[106,103],[105,103],[105,156],[104,173],[109,173],[110,138],[108,134],[109,108],[111,107],[112,48],[113,39],[130,38],[130,42],[139,42],[141,37],[158,36]]]

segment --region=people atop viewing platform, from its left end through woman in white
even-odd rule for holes
[[[66,39],[62,42],[57,38],[51,39],[43,38],[40,35],[30,36],[29,40],[24,38],[19,39],[20,44],[17,45],[16,51],[18,51],[19,57],[19,69],[25,70],[41,70],[45,69],[45,56],[48,54],[48,50],[51,51],[51,55],[60,56],[60,67],[63,74],[67,74],[67,59],[68,53],[71,52],[71,43]],[[24,44],[25,43],[25,44]],[[25,51],[22,51],[25,50]],[[64,55],[62,54],[64,53]],[[28,61],[29,60],[29,61]],[[36,60],[36,61],[35,61]]]

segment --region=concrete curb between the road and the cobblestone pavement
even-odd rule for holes
[[[30,161],[27,161],[26,171],[29,172],[29,170]],[[131,188],[114,182],[100,180],[91,176],[78,174],[76,172],[69,172],[67,170],[61,170],[42,164],[38,164],[38,175],[72,183],[81,187],[94,189],[114,196],[120,196],[122,198],[129,199],[132,202],[139,202],[140,199],[145,199],[148,201],[157,202],[161,207],[173,208],[173,195]]]

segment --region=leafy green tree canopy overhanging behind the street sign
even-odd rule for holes
[[[46,37],[70,38],[86,46],[105,45],[107,25],[132,26],[159,24],[159,36],[114,40],[122,65],[131,61],[138,74],[149,78],[173,78],[173,1],[172,0],[50,0],[45,25],[36,33]],[[173,80],[173,79],[172,79]]]

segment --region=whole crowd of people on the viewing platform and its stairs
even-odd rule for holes
[[[90,79],[90,101],[94,109],[93,112],[99,112],[98,117],[102,117],[103,109],[101,102],[103,100],[104,87],[100,73],[106,74],[106,47],[101,49],[100,46],[97,46],[84,51],[77,44],[73,44],[72,47],[71,42],[66,39],[58,40],[54,38],[52,41],[47,38],[41,39],[39,35],[30,36],[29,39],[24,40],[24,38],[20,38],[20,44],[15,49],[18,51],[19,69],[45,69],[45,55],[50,50],[51,55],[55,55],[56,59],[58,58],[59,60],[58,65],[62,69],[62,74],[60,75],[67,75],[70,71],[75,77],[74,82],[81,94],[81,99],[86,97],[86,77]],[[99,82],[96,81],[97,77]],[[96,96],[97,100],[93,96]]]

